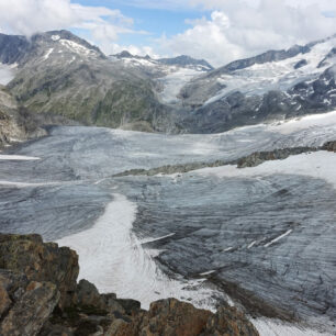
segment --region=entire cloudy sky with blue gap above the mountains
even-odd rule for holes
[[[0,33],[70,30],[111,55],[213,66],[336,34],[336,0],[0,0]]]

